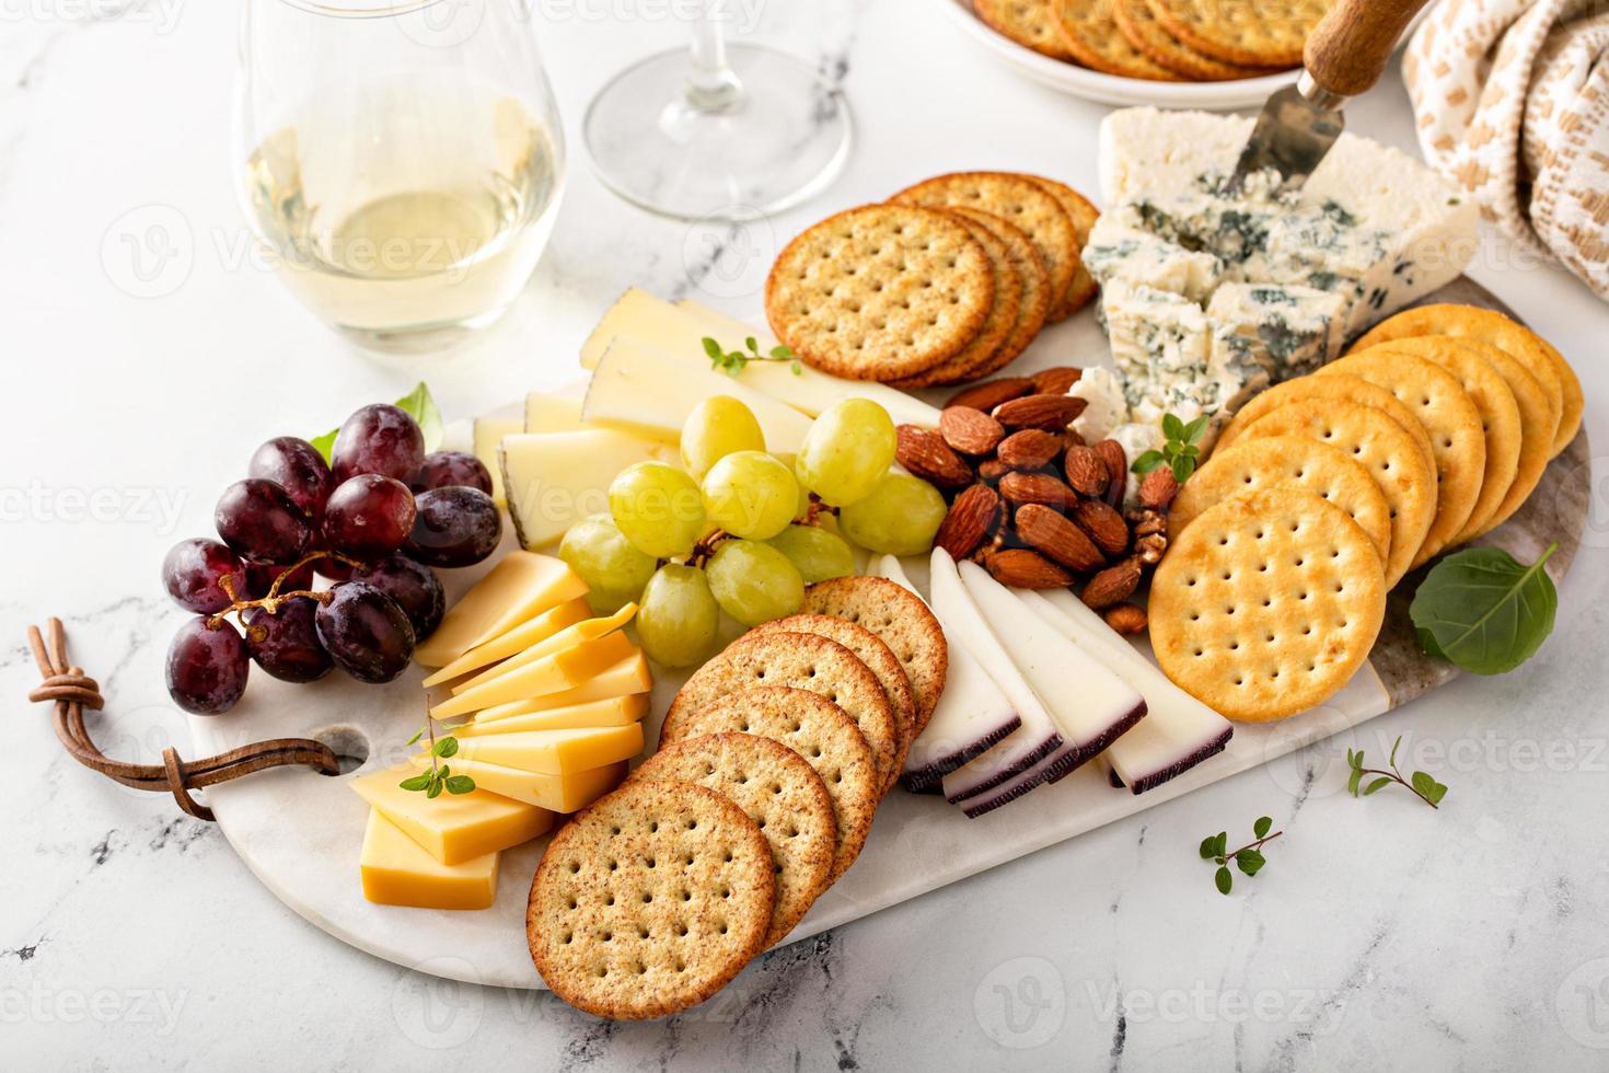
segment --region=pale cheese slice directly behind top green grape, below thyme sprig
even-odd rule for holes
[[[714,372],[708,359],[698,368],[634,336],[616,336],[603,351],[592,370],[581,418],[587,425],[676,444],[693,407],[718,394],[732,396],[755,412],[766,449],[774,454],[798,450],[809,431],[808,417]]]

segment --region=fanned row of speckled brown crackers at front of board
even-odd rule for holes
[[[658,753],[542,856],[526,912],[542,980],[616,1020],[726,986],[854,864],[948,664],[920,598],[838,578],[700,668]]]

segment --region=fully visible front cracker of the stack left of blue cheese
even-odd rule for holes
[[[867,204],[795,238],[766,319],[806,364],[850,380],[916,376],[965,347],[994,304],[983,245],[946,212]]]

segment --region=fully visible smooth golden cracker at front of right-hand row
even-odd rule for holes
[[[1244,722],[1335,695],[1385,619],[1368,534],[1297,487],[1218,504],[1184,529],[1150,582],[1150,645],[1183,690]]]

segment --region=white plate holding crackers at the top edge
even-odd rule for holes
[[[986,26],[972,13],[970,0],[936,0],[949,21],[961,31],[962,37],[972,42],[978,51],[986,53],[994,61],[1006,64],[1017,74],[1031,79],[1052,90],[1096,101],[1128,108],[1134,105],[1152,105],[1155,108],[1199,108],[1205,111],[1232,111],[1237,108],[1260,108],[1270,95],[1282,90],[1297,80],[1297,71],[1270,74],[1260,79],[1242,79],[1239,82],[1150,82],[1146,79],[1123,79],[1113,74],[1101,74],[1075,63],[1052,60],[1031,48],[1018,45]],[[1424,18],[1424,11],[1409,26],[1408,34]],[[1406,40],[1406,34],[1403,40]]]

